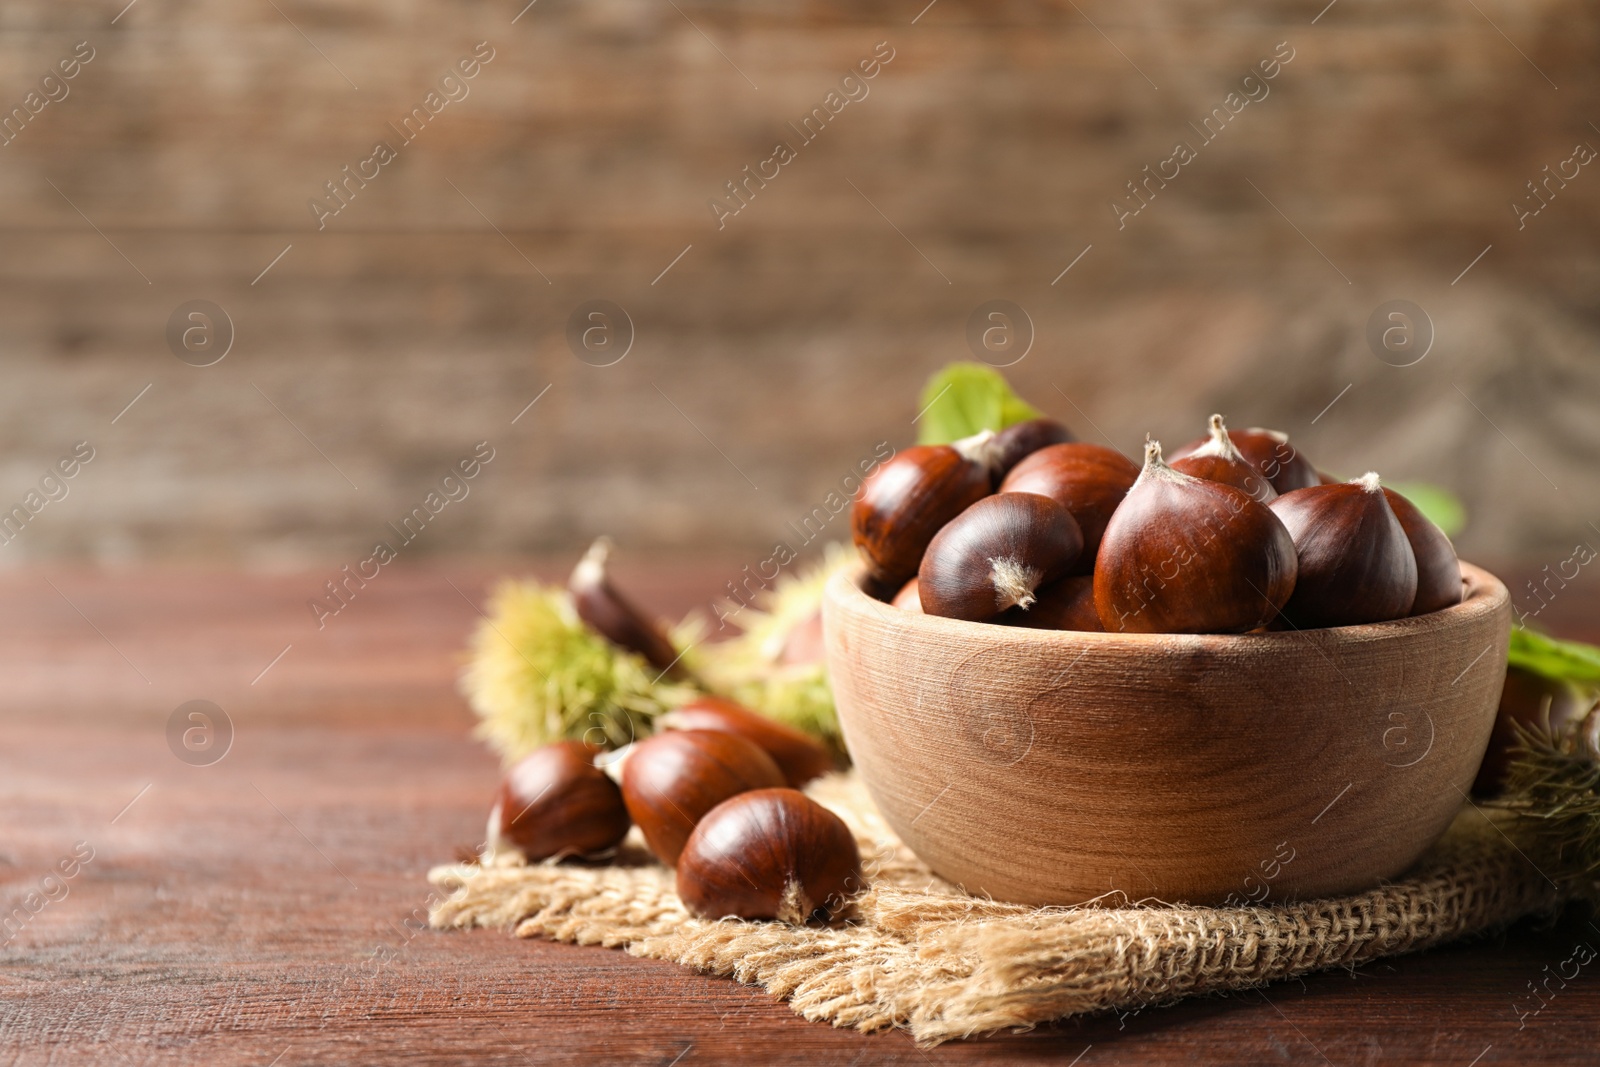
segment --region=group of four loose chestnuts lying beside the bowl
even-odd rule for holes
[[[661,715],[614,753],[558,741],[501,781],[490,841],[530,862],[603,859],[637,825],[677,869],[685,905],[704,918],[837,918],[864,888],[845,822],[800,792],[832,768],[806,734],[714,696]]]

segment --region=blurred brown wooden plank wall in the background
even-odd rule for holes
[[[1600,545],[1600,170],[1510,208],[1600,147],[1600,11],[925,2],[8,2],[5,109],[94,59],[0,147],[0,506],[96,459],[0,561],[338,566],[480,440],[408,553],[760,549],[914,437],[987,299],[1027,309],[1008,373],[1085,438],[1222,410],[1450,485],[1469,555]],[[1110,198],[1280,42],[1270,94],[1118,230]],[[307,200],[379,139],[398,158],[318,232]],[[718,230],[778,139],[798,158]],[[1437,330],[1406,368],[1363,336],[1397,298]],[[234,323],[214,366],[168,350],[190,299]],[[613,366],[568,350],[590,299],[635,325]]]

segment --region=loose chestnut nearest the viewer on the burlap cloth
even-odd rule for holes
[[[757,789],[717,805],[678,857],[678,896],[704,918],[826,923],[862,888],[850,827],[794,789]]]

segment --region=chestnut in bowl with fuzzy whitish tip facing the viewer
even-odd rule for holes
[[[926,614],[981,622],[1029,608],[1034,590],[1077,563],[1083,533],[1061,504],[1037,493],[989,496],[952,518],[917,571]]]

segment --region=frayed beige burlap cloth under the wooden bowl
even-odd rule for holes
[[[898,1025],[938,1043],[1354,968],[1550,913],[1578,894],[1576,880],[1542,857],[1536,865],[1496,819],[1464,808],[1405,878],[1342,899],[1235,909],[997,904],[933,875],[854,774],[808,792],[854,830],[870,880],[842,925],[693,918],[672,872],[634,845],[606,867],[437,867],[429,878],[450,896],[432,909],[432,925],[621,947],[763,985],[806,1019]]]

